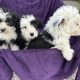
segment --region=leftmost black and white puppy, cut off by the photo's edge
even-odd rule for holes
[[[0,49],[19,50],[16,45],[19,33],[18,21],[19,18],[15,14],[0,8]]]

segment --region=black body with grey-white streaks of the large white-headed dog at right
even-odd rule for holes
[[[28,49],[49,49],[54,46],[52,41],[53,37],[48,32],[43,31],[30,42]]]

